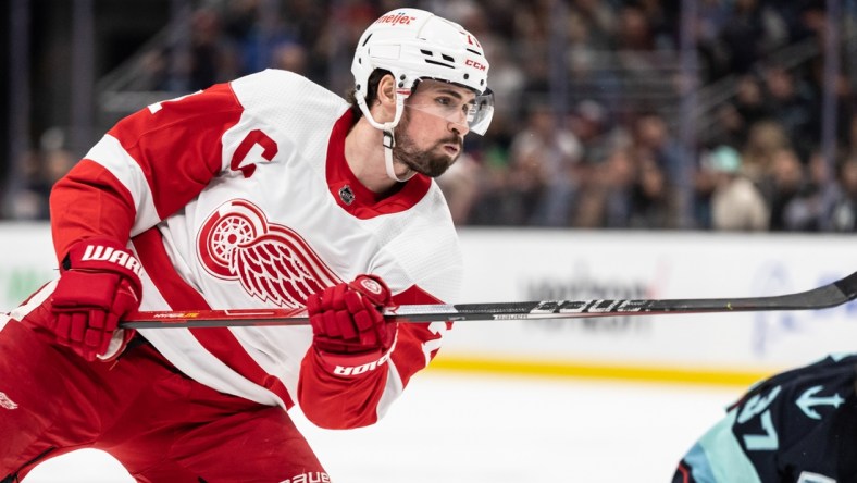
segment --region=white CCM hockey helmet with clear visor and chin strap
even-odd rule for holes
[[[365,104],[369,76],[376,69],[389,71],[396,78],[396,115],[384,124],[372,117]],[[351,73],[360,110],[384,132],[392,133],[396,127],[405,99],[420,79],[447,82],[476,92],[468,115],[468,127],[473,133],[485,134],[494,115],[488,61],[482,46],[461,25],[424,10],[394,10],[370,25],[357,45]]]

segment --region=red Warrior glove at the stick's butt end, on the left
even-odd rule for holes
[[[53,290],[57,340],[88,361],[117,357],[134,336],[119,322],[140,306],[139,273],[137,259],[114,240],[73,245]]]

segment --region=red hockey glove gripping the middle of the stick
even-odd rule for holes
[[[312,325],[313,346],[323,358],[349,366],[376,362],[396,340],[395,322],[384,320],[382,311],[390,306],[390,293],[378,276],[359,275],[312,294],[307,312]]]

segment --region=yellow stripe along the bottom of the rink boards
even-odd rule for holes
[[[433,371],[479,372],[568,379],[607,379],[742,387],[747,387],[769,377],[775,372],[639,364],[622,366],[596,362],[479,359],[444,357],[443,355],[438,355],[438,357],[432,361],[430,369]]]

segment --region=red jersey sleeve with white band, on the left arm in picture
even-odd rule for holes
[[[83,238],[125,243],[194,199],[223,169],[223,134],[241,113],[221,84],[120,121],[51,191],[58,258]]]

